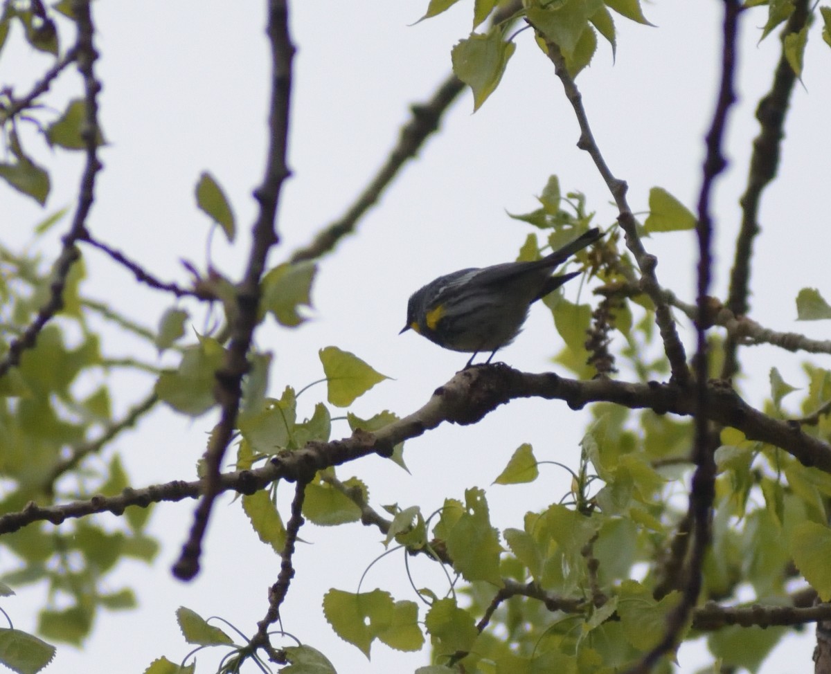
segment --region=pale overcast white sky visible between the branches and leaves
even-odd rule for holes
[[[105,171],[97,188],[89,226],[101,240],[142,261],[157,276],[184,283],[180,258],[205,264],[209,223],[194,208],[199,173],[209,170],[231,199],[240,228],[236,247],[214,236],[211,260],[238,276],[248,250],[255,203],[250,194],[264,164],[268,95],[268,46],[263,35],[264,2],[229,7],[219,0],[145,0],[140,9],[123,2],[96,2],[98,74],[104,83],[101,121],[110,141],[102,151]],[[425,100],[450,69],[450,47],[470,30],[470,0],[430,21],[411,25],[426,2],[293,2],[292,31],[298,46],[293,90],[290,164],[293,178],[283,191],[278,230],[282,243],[273,256],[282,261],[317,230],[339,216],[366,183],[408,119],[407,106]],[[607,44],[578,79],[597,142],[612,171],[629,183],[632,208],[644,212],[650,188],[659,185],[692,206],[700,183],[703,134],[717,85],[720,2],[675,0],[647,4],[656,28],[616,19],[617,62]],[[765,9],[744,17],[739,105],[730,117],[730,167],[716,192],[717,269],[714,294],[725,295],[730,245],[739,220],[751,139],[758,125],[756,102],[770,86],[778,41],[757,45]],[[66,32],[66,36],[71,33]],[[0,81],[21,82],[42,71],[47,60],[14,36],[0,57]],[[505,211],[527,212],[549,174],[564,190],[580,190],[597,224],[608,227],[616,212],[588,155],[575,144],[578,128],[553,67],[529,32],[499,90],[475,115],[469,93],[443,120],[439,136],[411,163],[381,203],[361,222],[357,236],[342,242],[321,263],[314,289],[312,320],[298,330],[263,330],[260,349],[272,349],[273,393],[287,384],[299,389],[322,377],[317,350],[336,344],[394,378],[361,398],[353,411],[370,416],[389,408],[406,414],[465,364],[464,354],[438,349],[425,339],[397,336],[411,291],[441,273],[513,259],[530,226]],[[814,27],[803,83],[789,112],[781,178],[765,193],[754,266],[753,316],[778,330],[823,335],[824,326],[795,324],[794,298],[804,286],[825,288],[824,197],[829,182],[831,136],[831,51]],[[29,72],[29,79],[22,71]],[[71,89],[64,83],[71,85]],[[78,91],[74,75],[64,76],[59,93]],[[70,203],[80,155],[42,159],[57,166],[53,193],[42,211],[0,185],[4,242],[27,240],[29,225]],[[60,229],[60,227],[58,227]],[[822,232],[822,234],[820,233]],[[56,232],[57,237],[60,232]],[[819,237],[822,236],[822,239]],[[54,242],[42,244],[46,252]],[[662,283],[691,299],[694,240],[691,233],[663,235],[647,242],[659,256]],[[132,277],[88,251],[86,293],[119,305],[146,325],[155,325],[170,298],[135,289]],[[571,289],[574,299],[576,287]],[[500,356],[519,369],[541,371],[558,351],[550,342],[550,319],[534,310],[523,335]],[[202,325],[195,328],[201,330]],[[689,325],[681,325],[689,343]],[[135,345],[111,344],[108,354],[130,354]],[[149,352],[143,352],[146,357]],[[767,391],[771,366],[797,386],[804,385],[802,357],[774,349],[747,350],[743,362],[754,374],[743,384],[751,403]],[[827,358],[815,359],[824,366]],[[140,399],[150,383],[125,380],[120,409]],[[301,416],[325,398],[322,387],[301,398]],[[577,466],[578,442],[588,413],[573,413],[558,402],[518,401],[500,408],[476,427],[440,427],[408,442],[411,474],[391,462],[368,458],[342,469],[370,484],[375,506],[420,504],[430,513],[445,495],[460,497],[470,486],[487,487],[510,454],[531,442],[538,457]],[[137,486],[192,479],[213,415],[194,422],[159,410],[116,447]],[[348,434],[335,422],[333,436]],[[552,468],[533,489],[499,487],[489,493],[494,525],[515,522],[526,510],[550,502],[568,489],[568,476]],[[288,496],[291,490],[281,490]],[[129,584],[140,608],[102,613],[85,650],[61,646],[48,671],[140,672],[161,655],[183,657],[189,647],[175,627],[180,604],[203,616],[220,615],[251,633],[267,608],[266,592],[279,559],[259,543],[237,504],[225,499],[214,511],[203,572],[191,584],[170,576],[170,564],[190,525],[194,504],[159,506],[151,530],[163,540],[157,564],[122,564],[111,589]],[[373,530],[361,525],[302,530],[301,545],[284,626],[326,653],[338,672],[406,672],[425,664],[424,655],[402,655],[376,643],[372,660],[344,644],[323,621],[322,594],[329,587],[354,591],[366,566],[382,552]],[[415,565],[416,584],[440,583],[430,564]],[[362,589],[389,589],[411,598],[401,555],[391,555],[367,574]],[[43,594],[22,590],[4,603],[19,628],[32,629]],[[420,615],[423,617],[423,608]],[[811,634],[780,647],[779,658],[763,672],[807,671]],[[125,662],[129,653],[129,662]],[[204,656],[200,656],[200,661]],[[692,672],[707,662],[701,649],[685,647],[680,663]],[[799,662],[794,667],[794,663]],[[203,666],[206,663],[203,663]],[[206,670],[207,671],[207,670]]]

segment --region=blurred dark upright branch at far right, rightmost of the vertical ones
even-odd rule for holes
[[[742,209],[741,227],[735,242],[735,258],[730,272],[730,292],[727,308],[735,316],[744,316],[750,310],[750,261],[753,258],[753,244],[760,232],[759,208],[762,193],[776,177],[779,168],[780,144],[784,138],[784,120],[788,112],[791,92],[794,90],[796,75],[785,57],[785,38],[801,31],[808,22],[808,0],[796,0],[794,9],[782,31],[782,54],[776,66],[770,91],[759,101],[756,119],[761,129],[753,141],[750,156],[750,171],[747,188],[740,198]],[[725,343],[725,362],[721,378],[730,379],[739,371],[736,351],[740,341],[728,335]]]

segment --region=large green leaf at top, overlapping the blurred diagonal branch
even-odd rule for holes
[[[514,42],[505,42],[497,27],[487,35],[472,33],[453,47],[453,72],[473,90],[474,111],[494,93],[515,50]]]

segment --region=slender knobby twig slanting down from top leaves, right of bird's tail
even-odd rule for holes
[[[537,31],[537,34],[539,37],[544,37],[540,31]],[[641,286],[655,305],[655,320],[663,340],[666,359],[670,363],[672,379],[676,383],[686,386],[690,382],[690,371],[686,365],[684,345],[681,344],[681,339],[678,337],[671,310],[663,300],[661,285],[658,283],[655,273],[657,258],[647,253],[641,238],[637,234],[637,221],[635,216],[632,215],[632,209],[629,208],[626,198],[627,183],[616,178],[606,164],[606,160],[603,159],[588,123],[588,115],[583,107],[583,95],[580,94],[573,77],[568,74],[565,59],[559,47],[553,42],[546,42],[546,46],[548,48],[548,58],[554,64],[554,70],[563,83],[563,90],[565,90],[566,97],[571,103],[578,125],[580,125],[580,139],[577,146],[579,149],[586,150],[591,156],[598,172],[606,182],[609,192],[612,193],[617,205],[617,221],[620,223],[623,232],[626,233],[627,247],[632,251],[632,255],[635,256],[637,265],[641,270]]]

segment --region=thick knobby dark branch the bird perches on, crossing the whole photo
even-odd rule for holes
[[[281,452],[268,465],[254,470],[234,471],[219,476],[219,492],[253,494],[275,480],[304,481],[315,471],[340,466],[369,454],[389,457],[399,442],[450,422],[467,425],[479,422],[499,405],[514,398],[560,399],[573,409],[604,401],[627,408],[651,408],[657,413],[690,416],[696,408],[691,390],[672,383],[625,383],[612,379],[578,381],[557,374],[527,374],[504,364],[477,365],[455,374],[435,390],[430,400],[409,416],[370,433],[356,430],[351,437],[331,442],[309,442],[294,452]],[[831,446],[802,432],[799,424],[770,418],[742,400],[727,386],[710,385],[706,418],[721,426],[735,427],[750,440],[781,447],[805,466],[831,472]],[[128,506],[146,507],[158,501],[181,501],[199,496],[199,481],[173,481],[164,485],[127,489],[118,496],[93,496],[60,506],[42,507],[31,503],[19,512],[0,516],[0,535],[17,531],[36,521],[60,524],[67,518],[100,512],[120,515]]]

